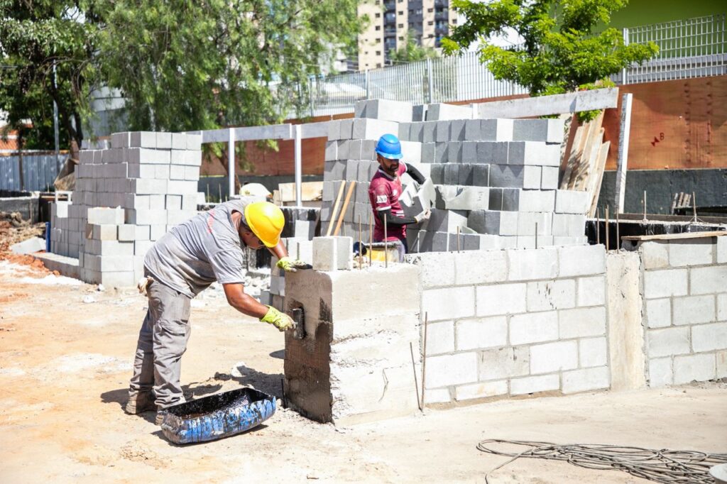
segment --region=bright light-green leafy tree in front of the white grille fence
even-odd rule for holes
[[[494,77],[514,81],[533,96],[612,85],[608,76],[657,52],[656,44],[624,45],[615,28],[603,28],[627,0],[495,0],[488,4],[452,0],[467,21],[442,40],[454,55],[479,41],[481,62]],[[597,29],[602,29],[597,31]],[[513,29],[524,44],[498,47],[494,36]],[[593,118],[588,113],[582,118]]]

